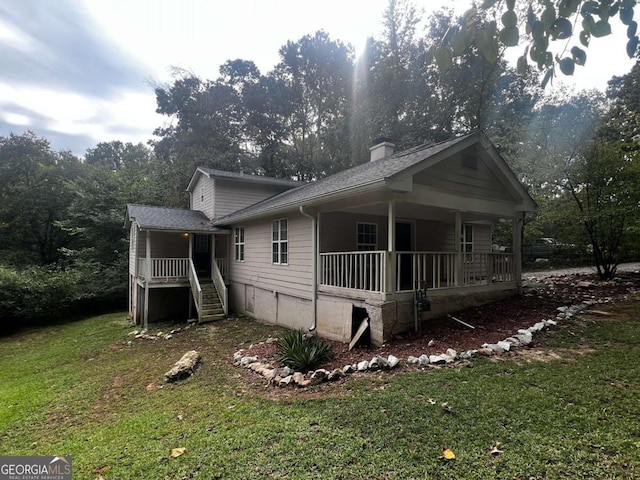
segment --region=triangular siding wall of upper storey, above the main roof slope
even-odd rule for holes
[[[217,178],[215,180],[215,217],[229,215],[273,197],[289,188],[277,185],[261,185],[260,183],[234,182]]]

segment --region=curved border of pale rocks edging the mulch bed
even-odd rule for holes
[[[509,352],[514,348],[529,347],[533,343],[533,336],[543,330],[558,325],[558,321],[574,317],[579,312],[587,308],[587,304],[577,304],[562,306],[557,308],[556,319],[546,319],[535,323],[529,328],[520,329],[518,332],[497,343],[485,343],[478,349],[456,352],[449,348],[439,355],[420,355],[419,357],[408,356],[407,365],[417,365],[420,367],[432,367],[440,365],[451,365],[461,361],[468,361],[476,356],[493,356],[504,352]],[[402,364],[400,358],[394,355],[388,357],[375,356],[371,360],[362,360],[357,363],[345,365],[329,372],[323,368],[307,373],[294,372],[289,367],[275,367],[266,360],[258,360],[258,357],[247,355],[247,350],[241,349],[233,354],[233,363],[239,367],[247,368],[262,376],[268,383],[278,387],[290,385],[296,387],[309,387],[319,385],[324,382],[338,380],[355,372],[375,372],[380,370],[393,370]]]

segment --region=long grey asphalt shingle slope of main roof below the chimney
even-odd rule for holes
[[[216,225],[233,223],[237,219],[253,217],[268,213],[286,206],[304,205],[316,199],[325,198],[332,194],[348,192],[350,189],[373,185],[383,182],[407,168],[426,160],[437,153],[460,143],[474,134],[457,137],[452,140],[436,144],[425,144],[409,150],[398,152],[389,158],[363,163],[356,167],[338,172],[318,181],[287,190],[267,200],[251,205],[227,216],[213,220]]]

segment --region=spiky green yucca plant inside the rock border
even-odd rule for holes
[[[322,362],[331,360],[333,352],[327,342],[307,337],[302,330],[290,330],[277,343],[278,361],[297,372],[314,370]]]

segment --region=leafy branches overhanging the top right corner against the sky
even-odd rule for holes
[[[495,62],[501,50],[519,45],[524,38],[527,45],[518,59],[518,72],[524,73],[531,61],[545,72],[544,87],[556,75],[556,67],[564,75],[573,75],[576,65],[584,65],[590,42],[610,35],[610,22],[616,17],[627,27],[625,48],[629,58],[634,57],[638,50],[635,6],[635,0],[484,0],[443,38],[436,61],[446,69],[461,50],[475,45],[487,60]],[[478,13],[490,20],[479,22]],[[580,46],[575,44],[576,36]],[[552,45],[558,46],[555,54]]]

